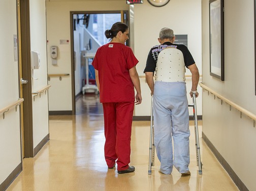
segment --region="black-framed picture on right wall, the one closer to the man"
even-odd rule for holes
[[[224,5],[223,0],[209,1],[210,75],[224,81]]]

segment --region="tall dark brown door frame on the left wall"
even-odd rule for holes
[[[20,83],[20,96],[24,98],[21,110],[21,137],[24,154],[22,158],[34,157],[33,146],[33,98],[32,98],[32,82],[31,82],[31,58],[30,58],[30,10],[29,0],[17,0],[19,2],[18,18],[18,46],[19,46],[19,75],[23,80],[27,80],[27,84]],[[20,71],[21,70],[21,71]]]

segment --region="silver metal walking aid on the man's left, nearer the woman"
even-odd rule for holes
[[[151,174],[151,167],[154,166],[154,125],[153,125],[153,96],[151,97],[151,116],[150,116],[150,140],[149,140],[149,162],[148,174]]]

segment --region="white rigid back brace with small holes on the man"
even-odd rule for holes
[[[185,63],[180,50],[165,48],[158,54],[155,81],[185,82]]]

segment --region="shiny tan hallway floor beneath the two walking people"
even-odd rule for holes
[[[104,121],[97,96],[77,100],[76,116],[50,116],[50,141],[35,158],[23,160],[23,171],[7,189],[10,190],[239,190],[200,137],[203,174],[198,174],[194,123],[190,131],[191,176],[158,173],[155,159],[148,175],[150,122],[134,122],[131,165],[135,172],[118,174],[108,169],[104,160]],[[82,106],[82,107],[79,107]],[[84,113],[84,114],[82,114]],[[202,122],[199,121],[200,135]]]

